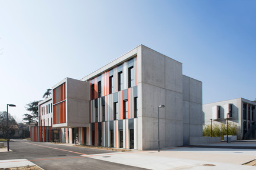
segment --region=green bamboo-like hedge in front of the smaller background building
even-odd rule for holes
[[[226,124],[213,124],[212,125],[212,136],[213,137],[221,137],[223,140],[223,136],[226,135]],[[238,135],[238,127],[236,124],[232,122],[228,122],[228,135]],[[203,136],[211,136],[210,125],[203,126]]]

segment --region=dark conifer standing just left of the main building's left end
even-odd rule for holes
[[[30,104],[25,106],[26,110],[31,112],[30,114],[24,114],[24,118],[22,120],[25,124],[38,124],[38,102],[40,101],[30,102]]]

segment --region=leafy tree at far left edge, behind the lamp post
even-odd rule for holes
[[[18,128],[17,122],[11,114],[9,116],[9,136],[15,134],[15,129]],[[0,131],[3,133],[4,138],[7,139],[7,112],[0,112]]]

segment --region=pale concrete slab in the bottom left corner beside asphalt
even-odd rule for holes
[[[28,159],[9,159],[9,160],[0,160],[0,168],[15,168],[20,166],[35,166]]]

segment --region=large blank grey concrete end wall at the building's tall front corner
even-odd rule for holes
[[[138,125],[141,121],[142,143],[138,149],[156,149],[158,146],[159,105],[166,106],[160,108],[160,148],[183,145],[182,64],[141,46],[140,71],[138,94],[141,99],[138,96],[138,105],[141,115],[138,115]]]

